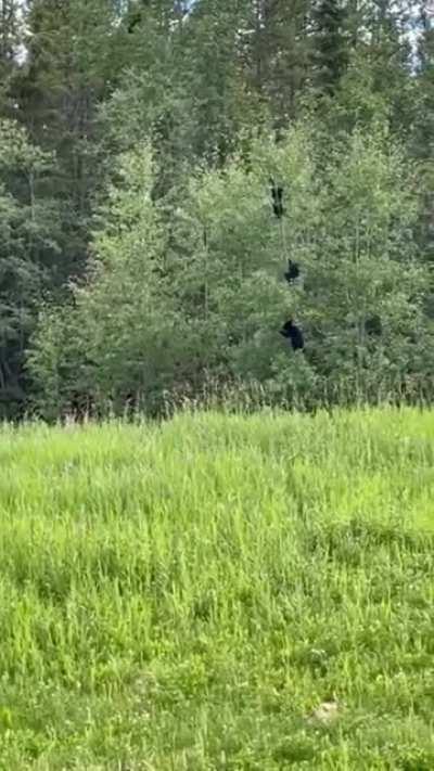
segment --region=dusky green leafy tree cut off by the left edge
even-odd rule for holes
[[[22,400],[24,350],[48,267],[41,255],[55,254],[56,210],[38,194],[51,163],[16,123],[0,121],[0,416]]]

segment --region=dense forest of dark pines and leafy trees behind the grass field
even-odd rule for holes
[[[430,399],[433,160],[427,0],[0,0],[0,417]]]

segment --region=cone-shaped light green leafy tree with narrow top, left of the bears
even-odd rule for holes
[[[115,407],[141,397],[152,410],[189,355],[164,281],[166,237],[151,196],[149,147],[123,155],[116,172],[99,210],[88,283],[75,287],[67,310],[41,313],[29,365],[49,411],[86,395]]]

